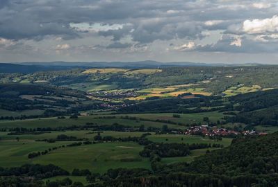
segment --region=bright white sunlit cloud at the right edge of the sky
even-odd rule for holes
[[[278,17],[275,15],[267,19],[247,19],[243,22],[243,31],[248,34],[278,31]]]

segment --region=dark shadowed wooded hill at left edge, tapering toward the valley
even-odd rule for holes
[[[77,114],[83,109],[99,108],[94,103],[85,104],[83,91],[40,84],[0,84],[0,109],[6,115],[1,119],[38,118]],[[10,111],[10,114],[8,112]],[[26,111],[26,112],[24,112]],[[13,112],[23,112],[15,115]]]

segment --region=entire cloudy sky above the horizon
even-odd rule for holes
[[[0,62],[278,64],[278,1],[0,0]]]

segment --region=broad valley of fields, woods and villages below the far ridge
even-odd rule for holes
[[[261,78],[268,69],[96,68],[5,75],[0,166],[53,164],[65,171],[38,175],[47,185],[66,178],[99,185],[115,173],[158,175],[189,167],[238,139],[278,130],[275,77],[245,79],[258,72]]]

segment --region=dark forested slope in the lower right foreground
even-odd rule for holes
[[[228,148],[207,152],[190,163],[160,166],[148,177],[119,176],[108,186],[277,186],[278,133],[245,136]]]

